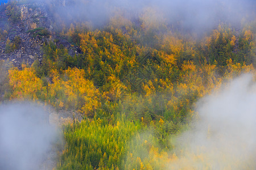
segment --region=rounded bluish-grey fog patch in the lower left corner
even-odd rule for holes
[[[0,169],[41,169],[56,139],[48,116],[36,104],[0,105]]]

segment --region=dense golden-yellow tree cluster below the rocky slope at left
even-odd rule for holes
[[[51,70],[52,83],[43,86],[43,82],[31,68],[9,70],[9,84],[13,88],[11,99],[44,99],[57,108],[77,109],[87,116],[93,116],[96,108],[101,106],[100,92],[93,82],[86,80],[81,69],[67,69],[64,78],[57,70]],[[104,96],[101,96],[104,97]]]

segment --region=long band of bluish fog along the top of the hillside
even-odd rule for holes
[[[42,0],[34,0],[42,2]],[[45,1],[43,1],[45,2]],[[86,20],[94,26],[108,23],[115,14],[130,19],[142,19],[143,11],[150,8],[152,15],[163,17],[165,23],[179,31],[197,32],[216,28],[218,23],[240,27],[242,20],[255,16],[255,1],[252,0],[48,0],[52,3],[54,15],[66,22]],[[148,18],[152,15],[147,14]]]

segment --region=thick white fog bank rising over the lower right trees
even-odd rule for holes
[[[256,84],[243,75],[197,103],[195,127],[177,138],[170,169],[255,169]]]

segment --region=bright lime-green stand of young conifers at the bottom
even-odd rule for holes
[[[138,127],[133,122],[121,120],[110,125],[104,124],[100,118],[67,125],[67,147],[57,169],[122,169],[127,143],[137,131]]]

